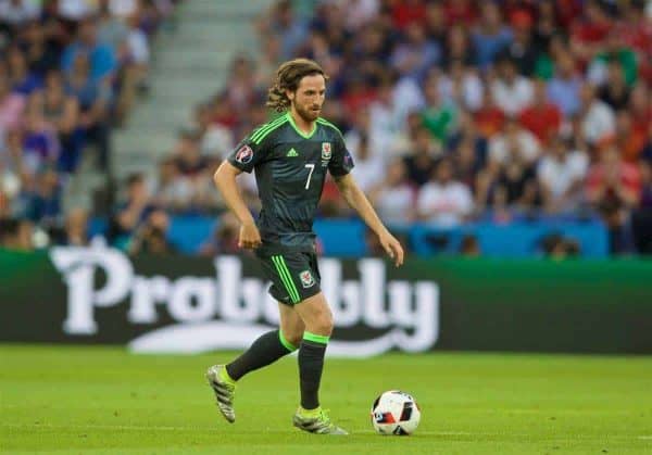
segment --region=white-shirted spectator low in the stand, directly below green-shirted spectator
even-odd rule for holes
[[[468,187],[453,179],[453,166],[441,160],[434,178],[424,185],[416,203],[421,219],[436,227],[450,228],[464,223],[473,212]]]

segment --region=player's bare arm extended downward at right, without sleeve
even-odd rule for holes
[[[369,203],[364,192],[360,189],[355,179],[351,174],[344,174],[342,176],[335,177],[337,187],[347,201],[347,203],[358,212],[360,217],[366,223],[366,225],[378,236],[380,244],[391,257],[396,266],[403,264],[403,247],[393,237],[389,230],[385,227],[378,214]]]

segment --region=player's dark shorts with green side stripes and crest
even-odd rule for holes
[[[308,252],[272,253],[259,249],[265,277],[272,281],[269,294],[287,305],[294,305],[322,291],[317,255]]]

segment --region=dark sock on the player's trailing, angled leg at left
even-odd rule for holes
[[[296,351],[280,330],[273,330],[256,339],[238,358],[226,366],[226,372],[237,381],[249,371],[256,370]]]

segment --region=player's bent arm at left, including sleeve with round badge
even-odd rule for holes
[[[253,216],[251,216],[249,207],[247,207],[247,204],[240,194],[236,177],[243,172],[251,173],[255,164],[263,157],[261,141],[256,142],[251,139],[254,135],[246,138],[231,153],[228,154],[213,177],[215,186],[222,193],[226,205],[240,222],[238,247],[248,249],[254,249],[261,245],[261,233],[255,226],[255,222],[253,220]]]

